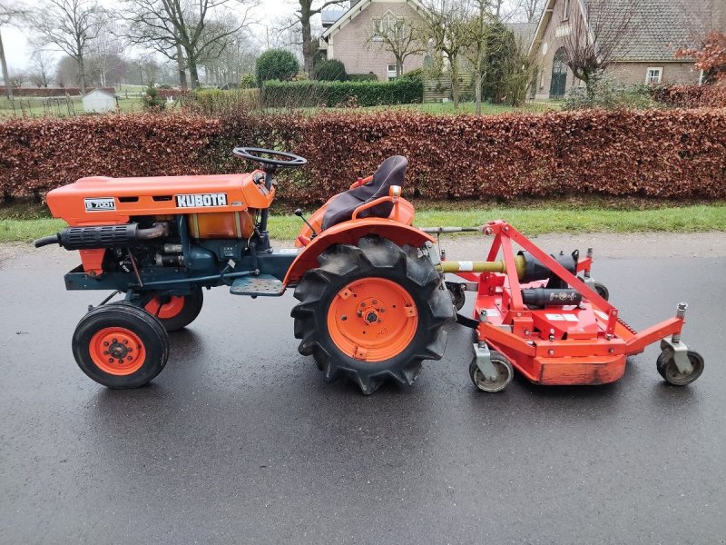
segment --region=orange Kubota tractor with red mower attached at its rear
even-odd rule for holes
[[[388,379],[412,384],[423,360],[442,357],[445,326],[455,321],[476,332],[469,373],[482,391],[504,389],[514,369],[542,384],[616,381],[628,355],[658,340],[666,381],[684,385],[703,370],[701,356],[680,338],[685,305],[671,320],[634,332],[593,281],[590,252],[555,258],[498,221],[481,228],[494,236],[486,261],[443,260],[432,234],[466,229],[412,226],[414,208],[400,196],[402,156],[309,220],[296,211],[304,222],[296,248],[274,250],[274,175],[307,162],[258,148],[233,153],[260,169],[83,178],[48,193],[52,213],[69,227],[35,246],[80,253],[66,289],[112,292],[73,336],[74,358],[94,381],[110,388],[152,381],[168,358],[168,332],[197,317],[202,288],[221,285],[252,298],[294,286],[299,352],[314,357],[326,381],[347,376],[366,394]],[[463,282],[446,282],[446,273]],[[456,313],[469,291],[476,292],[475,319]],[[111,302],[120,293],[123,300]]]

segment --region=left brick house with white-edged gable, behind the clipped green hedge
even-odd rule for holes
[[[376,33],[415,22],[423,9],[418,0],[350,0],[347,10],[322,14],[320,49],[329,60],[345,64],[348,74],[372,73],[381,82],[394,79],[396,58],[376,39]],[[404,72],[421,68],[424,56],[408,56]]]

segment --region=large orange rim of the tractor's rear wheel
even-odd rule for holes
[[[356,360],[383,362],[406,350],[418,326],[411,295],[396,282],[368,277],[340,290],[328,310],[338,349]]]

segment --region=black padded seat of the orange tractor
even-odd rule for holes
[[[406,157],[393,155],[381,163],[376,173],[373,174],[373,180],[334,197],[323,215],[323,231],[338,223],[347,222],[361,204],[387,196],[391,185],[403,185],[407,168]],[[388,218],[392,210],[393,203],[380,203],[359,213],[358,218],[370,216]]]

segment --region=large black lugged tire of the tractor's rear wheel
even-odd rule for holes
[[[358,246],[337,244],[319,256],[319,268],[306,272],[295,289],[299,301],[291,312],[295,338],[304,356],[312,355],[325,381],[347,376],[368,395],[388,379],[411,385],[424,360],[440,360],[446,350],[446,323],[455,318],[443,276],[416,247],[398,246],[369,235]],[[381,277],[397,282],[413,297],[419,323],[406,349],[383,362],[355,360],[339,351],[328,332],[329,304],[349,282]]]

